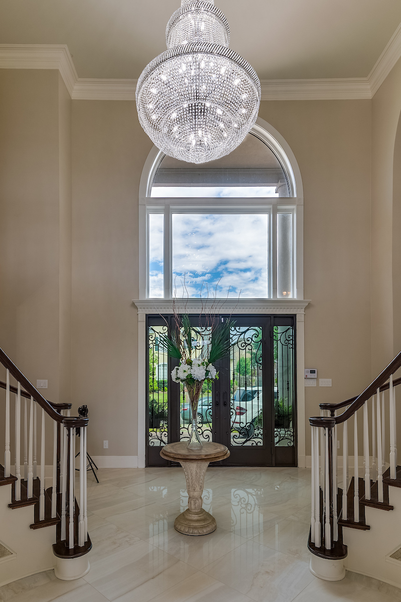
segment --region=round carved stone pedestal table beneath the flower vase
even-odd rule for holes
[[[210,462],[219,462],[230,455],[225,445],[204,443],[198,450],[187,448],[186,441],[169,443],[160,455],[171,462],[179,462],[187,480],[188,507],[175,520],[174,527],[184,535],[207,535],[216,529],[216,520],[202,508],[202,493],[206,469]]]

